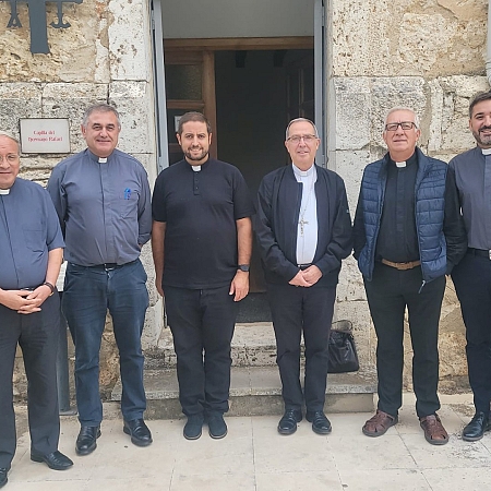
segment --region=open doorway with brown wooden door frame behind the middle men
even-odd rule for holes
[[[185,44],[185,46],[183,46]],[[188,110],[205,113],[214,128],[211,154],[240,169],[254,203],[262,178],[289,164],[285,128],[297,117],[314,118],[313,38],[275,39],[274,46],[240,49],[213,41],[166,40],[169,164],[182,158],[175,131]],[[307,47],[306,47],[307,45]],[[229,48],[229,49],[227,49]],[[238,322],[268,322],[266,285],[254,244],[250,295]]]

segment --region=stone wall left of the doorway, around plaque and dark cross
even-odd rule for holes
[[[20,118],[68,118],[71,153],[76,153],[85,148],[80,129],[85,108],[94,103],[112,104],[122,122],[118,147],[143,163],[153,183],[157,165],[148,2],[64,3],[63,20],[71,24],[64,29],[50,26],[57,20],[57,4],[47,3],[48,55],[31,52],[27,4],[19,2],[17,12],[22,27],[5,28],[10,3],[0,2],[0,129],[19,135]],[[64,157],[23,154],[21,177],[46,184],[51,168]],[[153,287],[149,246],[144,247],[142,260],[151,291],[143,335],[143,345],[148,347],[155,345],[160,332],[161,301]],[[101,350],[103,386],[115,382],[115,360],[108,324]],[[22,373],[16,376],[22,387]]]

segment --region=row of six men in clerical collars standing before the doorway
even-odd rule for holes
[[[342,261],[354,249],[378,335],[378,410],[362,432],[380,436],[397,423],[407,308],[417,415],[428,442],[448,441],[436,414],[438,330],[445,276],[452,274],[476,406],[463,439],[482,438],[491,429],[491,93],[472,99],[469,125],[477,147],[447,166],[418,148],[415,111],[392,109],[383,131],[388,152],[364,169],[352,227],[343,179],[315,165],[320,139],[304,118],[288,124],[291,164],[263,178],[256,211],[240,171],[209,156],[212,128],[199,112],[180,118],[184,158],[160,172],[152,199],[143,166],[116,148],[121,123],[111,106],[87,109],[87,148],[55,167],[48,192],[17,178],[20,144],[0,132],[0,487],[15,452],[17,344],[28,379],[31,458],[57,470],[73,464],[58,451],[60,304],[53,285],[62,258],[61,309],[75,345],[81,423],[75,452],[91,454],[100,436],[107,311],[120,355],[123,431],[135,445],[152,443],[143,419],[141,335],[148,294],[140,262],[151,236],[156,287],[177,354],[183,435],[199,439],[205,423],[212,438],[227,434],[230,343],[238,302],[249,292],[253,218],[285,403],[280,434],[297,430],[303,407],[315,433],[332,431],[324,414],[328,337]]]

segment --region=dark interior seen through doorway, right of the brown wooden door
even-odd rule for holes
[[[261,179],[289,164],[285,128],[313,117],[313,50],[215,51],[218,158],[237,166],[256,202]],[[251,313],[239,322],[271,321],[261,261],[251,261]],[[244,302],[246,303],[246,302]]]

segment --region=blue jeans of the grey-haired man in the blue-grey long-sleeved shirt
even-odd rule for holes
[[[69,263],[62,310],[75,345],[75,388],[79,420],[95,427],[103,420],[99,395],[99,350],[106,313],[112,318],[122,383],[121,411],[125,420],[143,417],[141,336],[148,307],[146,273],[140,260],[105,271]]]

